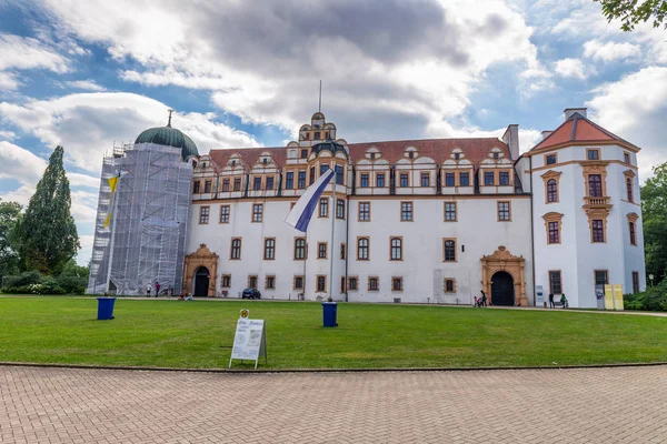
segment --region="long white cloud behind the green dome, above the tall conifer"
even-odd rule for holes
[[[1,102],[0,115],[51,149],[62,145],[66,159],[77,167],[98,172],[113,141],[132,142],[141,131],[165,125],[168,108],[143,95],[92,92],[21,104]],[[212,113],[176,113],[172,123],[196,141],[200,154],[211,148],[258,145],[252,137],[215,118]]]

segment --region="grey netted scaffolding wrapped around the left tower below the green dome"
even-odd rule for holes
[[[104,228],[108,180],[119,173],[112,223]],[[155,294],[157,282],[160,293],[181,292],[191,182],[192,167],[181,160],[180,148],[142,143],[104,158],[88,293],[103,293],[108,276],[112,294],[146,294],[149,285]]]

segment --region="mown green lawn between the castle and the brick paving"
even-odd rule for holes
[[[227,367],[239,310],[267,322],[260,369],[538,366],[667,361],[667,317],[446,306],[0,299],[0,361]],[[251,367],[235,361],[233,367]]]

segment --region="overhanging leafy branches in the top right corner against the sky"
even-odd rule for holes
[[[647,22],[653,18],[654,28],[665,23],[667,29],[667,0],[594,0],[603,4],[603,14],[608,21],[620,19],[623,29],[629,32],[635,24]]]

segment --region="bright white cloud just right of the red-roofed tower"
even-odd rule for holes
[[[606,83],[593,91],[587,102],[591,119],[643,149],[640,175],[667,161],[667,68],[649,67]]]

